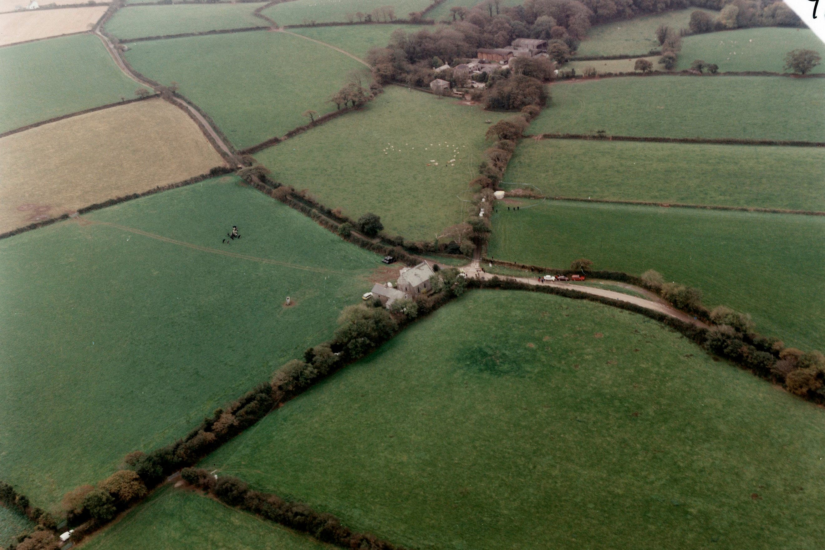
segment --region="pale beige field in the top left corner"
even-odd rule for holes
[[[0,46],[88,31],[104,12],[106,6],[3,13],[0,15]]]

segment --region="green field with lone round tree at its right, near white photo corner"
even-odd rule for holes
[[[681,41],[676,70],[691,68],[694,59],[719,65],[719,71],[785,72],[791,49],[813,49],[825,56],[825,44],[810,29],[762,27],[686,36]],[[823,73],[819,65],[811,73]]]

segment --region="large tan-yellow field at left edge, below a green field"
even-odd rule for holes
[[[151,99],[0,139],[0,233],[224,165],[183,111]]]

